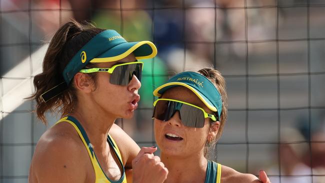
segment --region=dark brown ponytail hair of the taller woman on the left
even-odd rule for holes
[[[56,114],[61,113],[62,116],[66,115],[75,107],[77,98],[73,82],[69,83],[66,90],[47,102],[43,101],[41,94],[64,81],[62,72],[70,59],[92,37],[103,30],[95,28],[88,22],[81,24],[72,19],[55,32],[43,59],[43,71],[37,74],[33,80],[35,92],[27,98],[36,100],[36,114],[44,124],[47,124],[44,114],[47,110]],[[85,66],[85,68],[91,67],[94,67],[92,63]],[[95,83],[95,74],[89,75]],[[57,109],[59,110],[56,111]]]

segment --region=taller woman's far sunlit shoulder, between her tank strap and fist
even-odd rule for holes
[[[113,124],[111,126],[109,129],[109,134],[114,139],[119,148],[125,167],[131,168],[132,160],[140,151],[140,147],[117,124]]]

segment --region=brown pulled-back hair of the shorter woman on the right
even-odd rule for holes
[[[210,68],[202,68],[197,72],[207,77],[214,84],[216,89],[219,91],[222,100],[222,111],[219,118],[219,122],[220,122],[219,130],[217,135],[213,138],[213,140],[205,143],[204,156],[206,156],[206,153],[208,151],[213,151],[214,145],[217,139],[220,138],[223,131],[224,123],[227,119],[227,115],[228,115],[227,92],[226,92],[224,77],[221,75],[221,73],[218,70],[210,67]],[[212,149],[209,149],[210,147],[212,147]]]

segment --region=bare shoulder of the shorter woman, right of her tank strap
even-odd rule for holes
[[[222,165],[221,182],[260,182],[259,179],[250,173],[240,173],[233,168]]]

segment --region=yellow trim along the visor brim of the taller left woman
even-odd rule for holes
[[[90,60],[90,62],[91,63],[101,63],[101,62],[111,62],[111,61],[120,60],[120,59],[126,57],[127,55],[129,55],[136,48],[140,47],[143,44],[148,44],[151,47],[152,52],[151,52],[151,54],[146,55],[146,56],[135,56],[136,59],[152,58],[157,54],[157,48],[155,47],[155,45],[151,41],[143,40],[143,41],[140,41],[140,42],[134,44],[132,47],[130,47],[128,50],[126,50],[125,52],[123,52],[120,55],[105,57],[105,58],[93,58]]]

